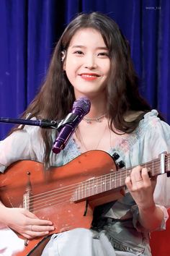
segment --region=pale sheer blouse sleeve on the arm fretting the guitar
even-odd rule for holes
[[[157,117],[157,111],[146,114],[143,122],[146,122],[145,135],[140,141],[141,163],[146,163],[158,158],[159,154],[170,153],[170,127],[166,122]],[[143,154],[141,154],[141,150]],[[169,157],[169,156],[168,156]],[[170,207],[170,178],[166,174],[157,176],[156,188],[154,191],[154,201],[164,212],[164,220],[160,229],[165,229],[166,220],[169,218],[166,208]]]

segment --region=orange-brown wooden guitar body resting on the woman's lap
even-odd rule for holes
[[[52,221],[55,231],[50,234],[79,227],[89,229],[94,206],[115,197],[105,192],[76,202],[76,189],[80,192],[81,182],[113,171],[116,171],[114,161],[100,150],[84,153],[66,166],[51,167],[48,171],[44,171],[42,163],[19,161],[0,175],[1,201],[9,208],[24,207],[39,218]],[[120,189],[118,193],[120,195]],[[46,244],[48,241],[44,240]],[[38,244],[42,248],[35,251]],[[24,251],[15,255],[38,256],[45,244],[42,245],[42,238],[30,240]]]

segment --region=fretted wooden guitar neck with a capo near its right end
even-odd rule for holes
[[[148,169],[148,174],[150,177],[158,176],[170,170],[169,159],[169,154],[165,155],[163,153],[163,158],[156,158],[153,161],[140,164],[140,166]],[[130,173],[134,167],[135,166],[120,169],[118,171],[110,170],[109,174],[104,174],[102,176],[97,176],[81,182],[76,189],[73,201],[84,200],[85,198],[108,192],[112,189],[124,187],[125,179],[127,176],[130,176]]]

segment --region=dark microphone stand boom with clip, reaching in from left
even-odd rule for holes
[[[65,119],[62,119],[61,121],[54,121],[54,120],[48,120],[48,119],[42,119],[42,120],[29,120],[29,119],[12,119],[7,117],[0,117],[1,123],[11,123],[11,124],[24,124],[24,125],[33,125],[38,126],[41,128],[52,128],[57,129],[58,132],[61,131],[61,129],[66,124],[71,124],[76,118],[78,117],[77,114],[69,113]]]

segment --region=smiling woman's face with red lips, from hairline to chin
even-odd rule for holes
[[[89,27],[73,35],[63,61],[63,69],[73,85],[76,98],[82,95],[93,98],[104,94],[110,59],[99,31]]]

